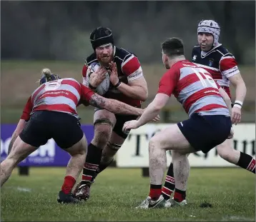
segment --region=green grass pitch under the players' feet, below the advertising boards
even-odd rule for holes
[[[184,208],[137,210],[149,193],[141,169],[108,168],[78,206],[58,205],[64,168],[17,169],[1,188],[1,221],[255,221],[255,175],[240,168],[192,168]],[[202,202],[212,208],[200,208]]]

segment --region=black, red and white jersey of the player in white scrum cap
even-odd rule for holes
[[[192,50],[192,62],[207,70],[231,98],[229,78],[240,71],[235,57],[222,44],[207,53],[204,53],[200,46],[195,46]]]

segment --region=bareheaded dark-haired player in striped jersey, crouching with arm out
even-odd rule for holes
[[[189,118],[155,134],[149,141],[149,196],[138,208],[184,206],[189,176],[188,153],[207,153],[232,137],[231,101],[215,83],[211,74],[184,57],[180,39],[162,44],[162,61],[168,71],[159,82],[157,95],[138,120],[124,123],[123,130],[138,128],[157,116],[174,94]],[[172,150],[174,199],[164,201],[162,180],[166,169],[166,151]],[[232,153],[230,153],[232,155]]]

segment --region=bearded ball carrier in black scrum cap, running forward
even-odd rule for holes
[[[82,69],[84,85],[96,89],[103,81],[106,70],[113,68],[109,91],[104,97],[141,107],[142,101],[147,99],[148,90],[137,56],[115,46],[112,31],[105,27],[94,29],[90,41],[94,53],[87,57]],[[88,67],[94,62],[101,64],[101,68],[88,78]],[[134,115],[124,116],[106,109],[95,109],[94,138],[88,146],[82,181],[74,189],[74,195],[87,201],[96,176],[112,163],[115,153],[129,134],[129,131],[122,131],[124,122],[136,118]]]

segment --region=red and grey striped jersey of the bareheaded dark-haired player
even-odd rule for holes
[[[188,60],[177,61],[159,82],[158,94],[174,94],[189,116],[192,113],[230,116],[210,73]]]

